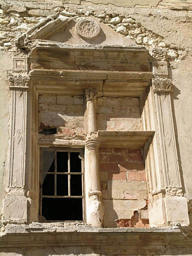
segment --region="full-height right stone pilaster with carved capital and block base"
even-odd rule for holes
[[[155,113],[153,153],[156,151],[158,159],[154,159],[156,173],[151,168],[149,171],[151,180],[155,180],[149,191],[149,222],[150,226],[169,226],[177,223],[188,225],[187,201],[183,196],[172,116],[173,84],[171,79],[168,79],[164,49],[153,49],[152,56],[154,77],[151,105]],[[159,61],[159,58],[162,60]],[[160,181],[156,182],[159,176]]]

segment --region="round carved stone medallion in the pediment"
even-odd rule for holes
[[[76,32],[82,38],[92,39],[100,32],[100,25],[93,19],[83,18],[76,23]]]

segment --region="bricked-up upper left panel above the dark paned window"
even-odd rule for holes
[[[57,134],[84,135],[83,96],[39,95],[39,132],[51,128]]]

